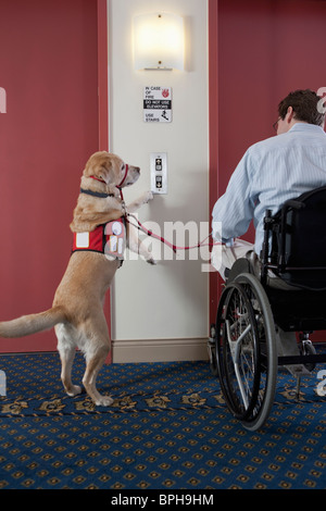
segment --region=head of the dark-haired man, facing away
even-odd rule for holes
[[[296,123],[324,126],[325,113],[318,110],[319,100],[310,89],[290,92],[278,104],[277,135],[288,132]]]

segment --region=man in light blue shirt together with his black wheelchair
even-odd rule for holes
[[[213,249],[211,262],[226,281],[216,320],[220,379],[229,408],[252,429],[268,413],[277,365],[296,375],[310,369],[297,363],[296,332],[326,329],[324,123],[321,97],[290,92],[278,105],[277,136],[247,150],[212,213],[223,249],[222,260]],[[254,244],[239,239],[251,221]]]

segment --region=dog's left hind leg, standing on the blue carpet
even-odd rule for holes
[[[71,327],[72,328],[72,327]],[[61,381],[66,394],[71,397],[82,392],[79,385],[72,383],[72,369],[76,354],[76,344],[73,342],[72,333],[65,325],[57,325],[58,351],[61,359]]]

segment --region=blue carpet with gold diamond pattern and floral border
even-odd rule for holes
[[[77,353],[76,384],[84,367]],[[110,408],[64,395],[57,353],[2,356],[0,369],[0,488],[326,488],[318,370],[299,401],[280,372],[269,420],[252,433],[226,410],[205,362],[106,365],[98,387]]]

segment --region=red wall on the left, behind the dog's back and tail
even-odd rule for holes
[[[68,224],[98,150],[97,0],[1,0],[0,320],[51,307]],[[54,333],[0,351],[54,349]]]

